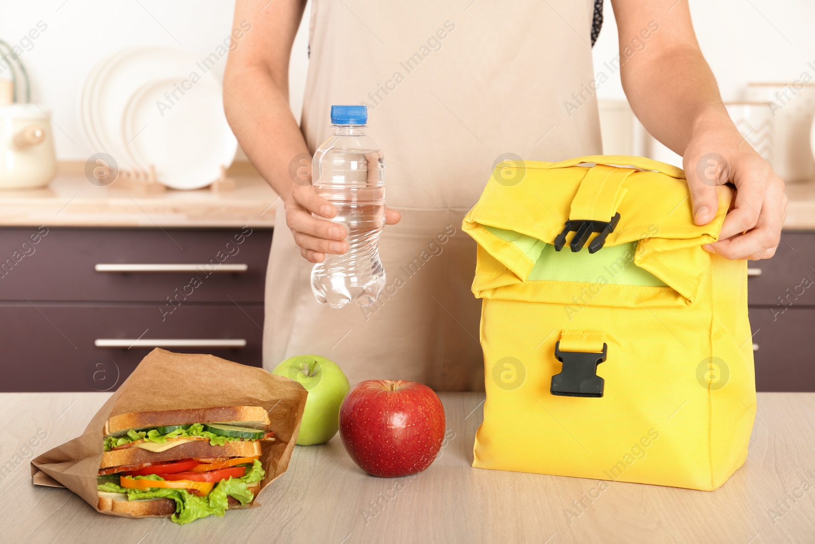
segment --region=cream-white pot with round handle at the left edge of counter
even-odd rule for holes
[[[51,119],[35,104],[0,106],[0,189],[43,187],[55,173]]]

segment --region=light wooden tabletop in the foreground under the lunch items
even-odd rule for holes
[[[366,475],[335,436],[298,446],[261,507],[183,527],[31,484],[29,459],[77,436],[106,398],[0,395],[0,470],[20,462],[0,473],[2,542],[815,542],[813,393],[760,393],[747,462],[713,493],[612,482],[592,499],[595,480],[474,469],[483,393],[447,393],[451,440],[424,473]]]

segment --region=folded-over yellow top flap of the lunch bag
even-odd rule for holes
[[[581,192],[582,182],[595,165],[636,168],[611,176],[616,180],[609,183],[605,183],[608,169],[602,167],[601,176],[597,169]],[[545,245],[554,243],[566,220],[598,219],[571,214],[597,215],[616,210],[619,223],[606,237],[604,248],[638,242],[633,262],[692,302],[710,262],[701,246],[718,239],[733,194],[726,186],[716,191],[716,218],[697,226],[685,174],[676,166],[618,155],[578,157],[557,163],[503,161],[493,170],[481,198],[462,225],[479,246],[473,291],[476,296],[489,292],[491,297],[500,297],[501,287],[527,280]],[[501,237],[494,234],[496,229]],[[573,233],[567,240],[571,236]],[[562,251],[570,251],[568,245]],[[539,294],[535,296],[540,292],[535,290]]]

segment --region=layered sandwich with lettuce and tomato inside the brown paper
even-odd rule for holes
[[[274,441],[260,406],[121,414],[104,425],[99,510],[186,524],[254,498]]]

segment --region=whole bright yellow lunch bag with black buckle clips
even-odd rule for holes
[[[473,466],[718,488],[756,412],[747,261],[708,253],[684,172],[642,157],[503,161],[478,243],[487,400]]]

